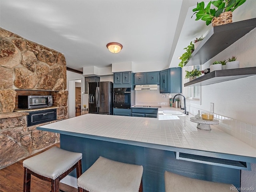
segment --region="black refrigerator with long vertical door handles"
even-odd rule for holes
[[[89,113],[113,114],[113,83],[110,81],[88,82]]]

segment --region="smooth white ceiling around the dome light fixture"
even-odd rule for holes
[[[67,66],[77,70],[123,62],[141,72],[163,70],[178,66],[183,48],[210,27],[190,19],[191,8],[187,15],[196,2],[0,0],[0,27],[63,53]],[[119,42],[123,49],[110,53],[108,42]]]

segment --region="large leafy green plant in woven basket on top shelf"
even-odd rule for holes
[[[232,23],[232,12],[244,2],[246,2],[246,0],[217,0],[210,1],[207,6],[204,7],[204,2],[202,1],[197,3],[193,12],[196,14],[196,20],[201,19],[206,22],[206,25],[212,23],[212,26],[218,26]],[[216,9],[212,9],[211,5],[215,6]]]

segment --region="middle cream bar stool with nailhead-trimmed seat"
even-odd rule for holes
[[[143,166],[100,156],[78,179],[78,192],[142,192]]]

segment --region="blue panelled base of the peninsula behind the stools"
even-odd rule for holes
[[[60,147],[69,151],[82,152],[82,172],[85,172],[99,156],[142,165],[145,192],[164,192],[165,170],[191,178],[229,183],[237,188],[240,187],[239,169],[177,160],[174,151],[65,134],[60,134]],[[72,172],[71,176],[76,177],[75,172]]]

